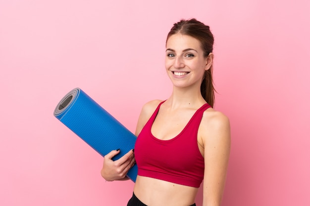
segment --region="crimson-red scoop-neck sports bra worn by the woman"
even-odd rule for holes
[[[206,103],[199,108],[177,136],[160,140],[152,134],[151,128],[162,103],[138,135],[135,145],[138,175],[200,187],[205,163],[198,148],[197,134],[203,114],[211,106]]]

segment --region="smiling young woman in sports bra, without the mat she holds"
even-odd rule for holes
[[[213,35],[196,19],[175,23],[166,40],[165,67],[171,96],[146,103],[134,151],[117,161],[104,157],[107,181],[124,180],[135,162],[138,176],[128,206],[220,206],[230,152],[230,124],[212,109]]]

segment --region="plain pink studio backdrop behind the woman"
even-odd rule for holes
[[[81,87],[135,130],[165,99],[164,44],[196,17],[215,36],[215,109],[231,121],[223,206],[309,206],[309,0],[0,0],[0,204],[124,206],[103,158],[53,117]],[[198,206],[202,193],[197,198]]]

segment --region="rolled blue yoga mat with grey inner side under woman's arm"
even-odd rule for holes
[[[54,116],[103,157],[120,149],[112,158],[115,161],[134,149],[136,136],[80,88],[71,90],[61,99]],[[127,177],[135,182],[137,173],[138,167],[134,165]]]

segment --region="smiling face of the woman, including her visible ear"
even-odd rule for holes
[[[168,77],[176,87],[197,85],[200,88],[206,70],[210,68],[208,57],[197,39],[175,34],[166,43],[165,67]]]

